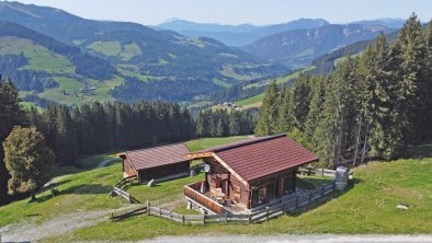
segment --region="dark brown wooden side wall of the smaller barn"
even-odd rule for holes
[[[179,173],[189,173],[190,162],[181,162],[175,164],[167,164],[158,167],[150,167],[139,171],[139,181],[148,182],[152,178],[162,178],[166,176],[179,174]]]

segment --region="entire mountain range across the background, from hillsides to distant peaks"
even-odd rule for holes
[[[300,19],[231,26],[177,20],[148,27],[1,1],[0,73],[12,78],[24,100],[42,106],[116,100],[190,102],[245,81],[289,73],[319,55],[393,30],[383,24],[395,23],[334,25]],[[187,31],[228,33],[249,45],[231,47],[209,35],[186,36]]]

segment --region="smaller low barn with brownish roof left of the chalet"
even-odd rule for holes
[[[139,183],[151,180],[163,181],[189,175],[190,159],[184,143],[160,146],[126,151],[117,155],[123,159],[123,176],[136,176]]]

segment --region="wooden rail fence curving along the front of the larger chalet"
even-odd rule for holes
[[[147,202],[147,215],[172,220],[183,224],[206,224],[206,223],[252,223],[268,221],[271,218],[284,215],[286,211],[308,205],[334,190],[334,184],[323,185],[302,196],[292,196],[278,201],[274,206],[251,212],[249,215],[232,215],[228,212],[217,215],[180,215],[158,207],[152,207]]]

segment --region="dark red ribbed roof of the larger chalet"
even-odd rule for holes
[[[268,136],[206,150],[214,152],[248,182],[318,161],[286,135]]]

